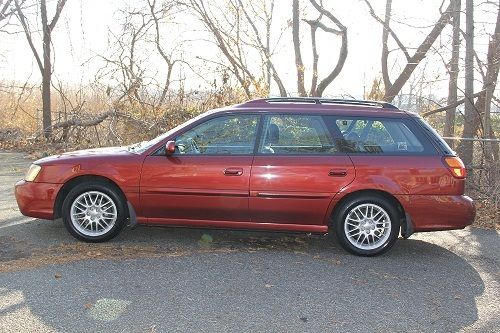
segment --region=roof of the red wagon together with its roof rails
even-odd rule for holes
[[[279,97],[255,99],[242,104],[232,105],[218,111],[244,110],[252,112],[287,112],[287,113],[317,113],[351,116],[408,116],[404,110],[379,101],[326,99],[311,97]]]

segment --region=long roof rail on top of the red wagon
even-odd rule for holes
[[[398,109],[391,103],[379,101],[366,101],[359,99],[335,99],[335,98],[321,98],[321,97],[272,97],[255,99],[246,103],[244,106],[258,106],[262,104],[274,103],[304,103],[304,104],[345,104],[345,105],[358,105],[358,106],[378,106],[384,109]]]

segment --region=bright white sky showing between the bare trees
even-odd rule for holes
[[[145,0],[143,0],[145,1]],[[222,0],[215,0],[222,1]],[[54,79],[65,84],[87,84],[93,82],[96,73],[103,66],[100,55],[109,56],[113,43],[110,44],[112,33],[118,33],[121,29],[120,9],[137,8],[141,0],[68,0],[63,14],[53,34],[53,45],[55,48]],[[214,1],[207,1],[208,4]],[[384,0],[372,0],[373,7],[379,16],[384,13]],[[479,2],[479,0],[478,0]],[[56,1],[49,0],[49,16],[53,14]],[[142,2],[145,3],[145,2]],[[305,6],[308,1],[303,0],[306,8],[303,17],[315,18],[310,6]],[[352,95],[363,97],[364,90],[369,90],[371,81],[380,76],[380,53],[382,27],[368,13],[366,5],[361,0],[336,0],[324,1],[325,7],[334,13],[348,29],[348,57],[342,73],[325,91],[326,96]],[[441,0],[393,0],[393,29],[398,33],[403,43],[410,49],[418,46],[425,38],[432,25],[439,17],[438,8]],[[480,57],[485,58],[488,36],[486,32],[493,31],[495,14],[489,14],[488,10],[494,12],[493,6],[482,5],[476,10],[476,49]],[[276,38],[280,29],[286,26],[291,17],[291,1],[276,0],[275,22],[272,36]],[[464,16],[463,20],[465,19]],[[33,20],[34,16],[31,16]],[[36,22],[32,21],[35,25]],[[412,27],[413,26],[413,27]],[[419,28],[414,28],[414,27]],[[19,28],[11,27],[11,31]],[[208,89],[213,75],[207,70],[207,64],[202,63],[199,57],[220,59],[220,53],[216,46],[205,39],[210,36],[204,33],[200,23],[191,16],[176,18],[176,24],[164,26],[163,35],[166,36],[164,44],[178,45],[182,50],[182,58],[192,65],[194,71],[184,68],[182,73],[178,70],[175,77],[181,74],[186,78],[185,84],[188,89]],[[442,49],[443,58],[434,55],[429,56],[425,64],[417,69],[417,75],[425,74],[427,81],[435,81],[424,89],[428,93],[446,96],[447,76],[443,67],[443,59],[449,60],[450,27],[439,38],[436,45],[444,45]],[[311,61],[309,47],[309,29],[301,27],[302,47],[304,63],[307,67]],[[36,38],[36,45],[40,46],[40,36]],[[202,39],[202,40],[200,40]],[[337,61],[340,42],[338,37],[320,33],[318,36],[320,54],[320,79],[332,63]],[[392,45],[394,46],[394,45]],[[392,47],[391,46],[391,47]],[[142,57],[147,61],[149,76],[158,82],[163,80],[165,71],[161,60],[150,55],[151,50],[146,47],[139,49]],[[402,54],[392,52],[390,66],[393,68],[393,80],[401,67]],[[288,90],[296,91],[296,70],[294,66],[293,44],[291,42],[291,29],[285,31],[283,38],[277,45],[273,61],[278,73],[282,77]],[[463,61],[463,59],[462,59]],[[209,66],[208,66],[209,67]],[[203,71],[206,70],[204,73]],[[306,72],[306,85],[310,80],[310,71]],[[200,78],[204,76],[207,80]],[[461,73],[463,76],[463,72]],[[109,78],[106,78],[107,80]],[[0,80],[31,82],[40,81],[40,73],[34,62],[31,50],[28,47],[23,34],[0,34]],[[476,82],[479,87],[480,82]],[[307,89],[307,87],[306,87]],[[408,87],[406,88],[408,89]],[[276,94],[276,87],[272,88],[271,94]]]

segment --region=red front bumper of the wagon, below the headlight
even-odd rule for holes
[[[23,215],[45,220],[54,218],[54,203],[62,184],[20,180],[15,185],[17,205]]]

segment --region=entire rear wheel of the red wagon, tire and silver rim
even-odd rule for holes
[[[371,257],[389,250],[400,229],[400,214],[382,196],[357,196],[341,203],[333,218],[335,236],[350,253]]]

